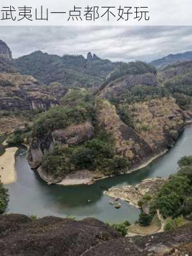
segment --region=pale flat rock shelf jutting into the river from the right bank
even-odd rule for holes
[[[108,191],[104,191],[104,194],[113,198],[119,198],[130,204],[138,206],[138,201],[143,195],[154,195],[157,189],[164,184],[165,178],[152,178],[145,179],[136,186],[119,186],[109,188]]]

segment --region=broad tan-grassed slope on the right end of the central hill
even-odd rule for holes
[[[184,129],[184,115],[172,97],[131,104],[134,130],[153,152],[168,148]]]

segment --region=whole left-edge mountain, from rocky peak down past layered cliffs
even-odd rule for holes
[[[0,135],[23,127],[28,117],[59,104],[66,90],[58,83],[46,86],[21,75],[8,45],[0,40]]]

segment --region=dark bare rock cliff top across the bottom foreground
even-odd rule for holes
[[[0,216],[2,256],[186,256],[192,255],[192,226],[153,236],[122,237],[99,220],[21,214]]]

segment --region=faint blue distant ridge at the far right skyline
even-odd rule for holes
[[[167,65],[171,65],[177,61],[188,61],[192,60],[192,51],[178,53],[178,54],[169,54],[159,60],[154,60],[150,64],[154,65],[158,70],[163,69]]]

